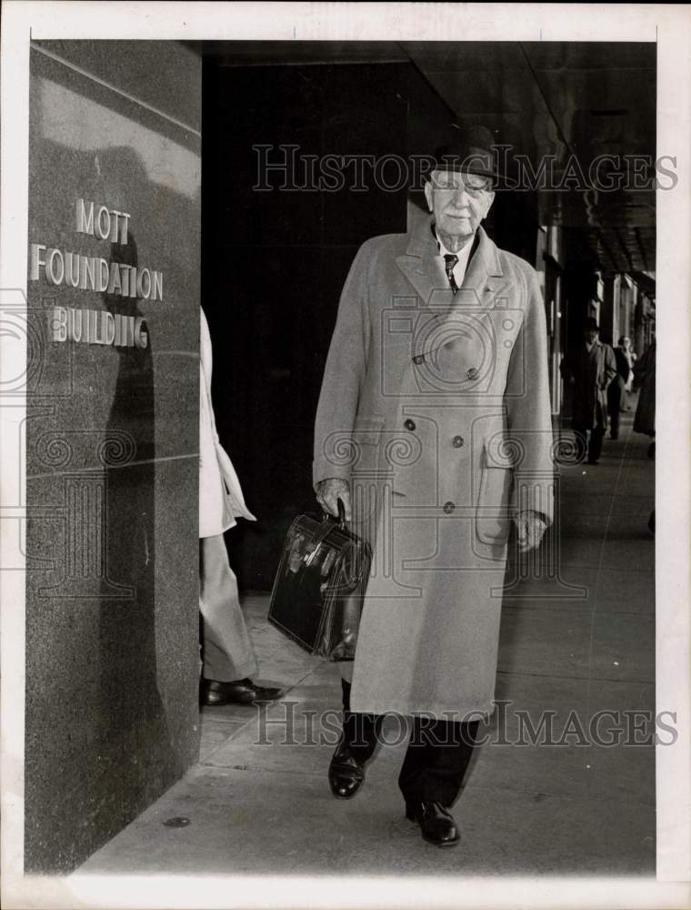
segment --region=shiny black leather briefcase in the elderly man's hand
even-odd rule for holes
[[[339,501],[339,506],[341,503]],[[340,520],[298,515],[271,592],[269,622],[327,661],[352,661],[372,551]]]

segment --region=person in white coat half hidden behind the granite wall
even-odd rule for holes
[[[211,337],[201,310],[199,377],[199,611],[202,615],[203,704],[270,701],[280,689],[255,685],[255,652],[240,607],[224,531],[238,518],[255,521],[247,509],[235,468],[215,429],[211,402]]]

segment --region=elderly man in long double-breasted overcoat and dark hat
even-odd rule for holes
[[[493,711],[512,521],[521,549],[552,518],[544,305],[535,270],[480,227],[492,137],[449,131],[425,186],[431,218],[367,240],[350,270],[315,425],[317,500],[370,541],[344,728],[329,767],[356,794],[381,718],[412,719],[406,817],[457,844],[449,812]]]

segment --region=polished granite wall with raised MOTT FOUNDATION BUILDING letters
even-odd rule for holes
[[[201,63],[124,45],[31,56],[27,872],[75,868],[198,753]]]

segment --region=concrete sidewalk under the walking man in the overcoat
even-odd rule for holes
[[[485,728],[490,742],[456,803],[459,847],[438,850],[406,822],[396,788],[406,744],[393,718],[386,734],[398,742],[379,748],[363,790],[332,797],[333,745],[315,741],[334,742],[319,718],[339,708],[335,670],[270,627],[268,597],[255,595],[244,607],[262,682],[289,686],[285,700],[206,709],[200,762],[73,877],[655,875],[654,748],[576,744],[598,711],[655,713],[654,462],[630,425],[628,415],[596,467],[562,468],[560,579],[544,571],[506,597],[496,697],[511,704],[506,723],[496,712]],[[565,598],[565,583],[586,596]],[[535,727],[554,712],[563,744],[516,744],[516,711]]]

